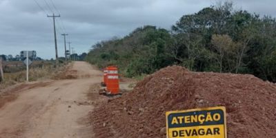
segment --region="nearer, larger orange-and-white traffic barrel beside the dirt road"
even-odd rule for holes
[[[107,68],[106,89],[112,94],[119,94],[119,75],[117,66]]]

